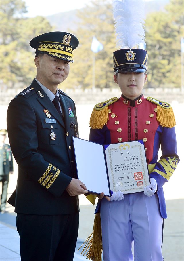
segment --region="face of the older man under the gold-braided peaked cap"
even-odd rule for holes
[[[45,87],[56,86],[68,76],[70,65],[68,61],[51,57],[47,54],[35,57],[37,77]]]

